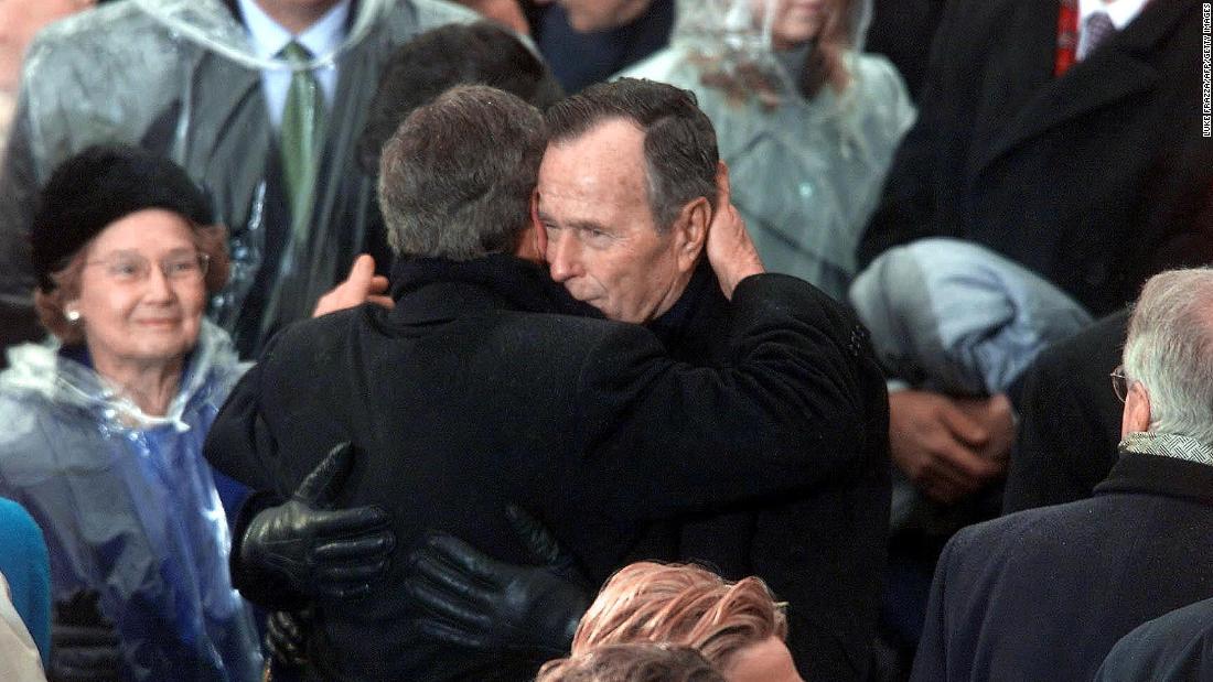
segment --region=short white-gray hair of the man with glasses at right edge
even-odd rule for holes
[[[1150,430],[1213,446],[1213,269],[1150,277],[1129,320],[1124,374],[1150,394]]]

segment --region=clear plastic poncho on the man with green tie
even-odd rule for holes
[[[314,202],[289,217],[273,191],[267,199],[277,132],[261,71],[292,67],[258,58],[223,0],[114,2],[46,29],[27,56],[0,173],[0,303],[30,309],[25,234],[38,188],[63,159],[118,142],[163,151],[211,193],[233,257],[230,283],[212,302],[211,317],[241,351],[260,346],[280,323],[306,317],[378,230],[374,179],[354,159],[381,64],[416,33],[475,18],[438,0],[354,6],[340,47],[297,67],[334,67],[338,85]]]

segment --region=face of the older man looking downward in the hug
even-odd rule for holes
[[[621,119],[549,144],[539,172],[552,279],[623,322],[649,322],[668,310],[700,247],[684,224],[657,233],[645,177],[644,132]]]

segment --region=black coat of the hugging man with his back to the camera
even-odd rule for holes
[[[286,497],[348,440],[357,463],[336,502],[386,509],[398,557],[445,531],[531,561],[503,514],[514,503],[600,581],[649,522],[792,494],[867,449],[876,361],[858,322],[793,277],[738,286],[721,369],[673,361],[643,327],[534,313],[551,309],[536,294],[551,280],[514,258],[420,263],[398,286],[392,311],[284,328],[216,419],[207,459]],[[410,627],[403,563],[366,598],[318,604],[321,671],[525,678]]]

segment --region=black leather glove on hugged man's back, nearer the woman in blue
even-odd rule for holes
[[[353,447],[337,445],[300,483],[290,502],[263,509],[240,533],[239,572],[285,580],[309,598],[370,592],[387,568],[395,534],[377,506],[331,509],[353,465]]]

